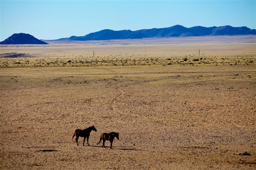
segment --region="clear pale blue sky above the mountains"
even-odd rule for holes
[[[138,30],[177,24],[256,29],[256,0],[0,0],[0,41],[21,32],[38,39],[58,39],[102,29]]]

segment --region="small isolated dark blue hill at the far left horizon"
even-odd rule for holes
[[[44,41],[36,39],[34,36],[26,33],[15,33],[8,37],[0,44],[48,44]]]

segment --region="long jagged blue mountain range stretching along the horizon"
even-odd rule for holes
[[[121,30],[114,31],[104,29],[95,33],[89,33],[84,36],[71,36],[69,38],[58,39],[60,41],[89,41],[89,40],[110,40],[110,39],[142,39],[154,37],[191,37],[206,35],[256,35],[255,29],[248,27],[232,27],[229,25],[221,27],[183,27],[174,25],[168,28],[140,29],[137,31]]]

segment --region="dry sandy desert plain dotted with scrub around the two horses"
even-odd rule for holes
[[[2,45],[0,169],[255,169],[255,63],[255,36]]]

